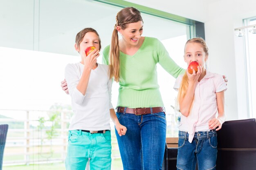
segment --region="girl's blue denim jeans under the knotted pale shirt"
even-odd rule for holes
[[[179,131],[177,170],[216,170],[217,133],[215,130],[196,132],[192,143],[189,134]]]

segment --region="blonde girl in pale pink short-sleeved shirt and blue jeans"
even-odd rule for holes
[[[178,170],[215,170],[217,158],[217,133],[225,121],[224,91],[227,89],[221,75],[205,68],[208,47],[202,38],[188,40],[184,49],[184,61],[196,61],[198,71],[188,70],[176,79],[177,104],[181,123],[177,155]],[[218,111],[218,117],[216,113]],[[218,127],[218,128],[217,128]],[[215,130],[216,129],[216,130]]]

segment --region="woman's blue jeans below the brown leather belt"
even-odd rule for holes
[[[166,118],[163,112],[146,115],[117,113],[127,132],[117,142],[124,170],[162,170],[166,141]]]

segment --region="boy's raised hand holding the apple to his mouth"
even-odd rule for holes
[[[85,51],[82,52],[84,58],[85,67],[92,69],[96,66],[97,58],[99,57],[99,50],[94,49],[88,56],[85,55]]]

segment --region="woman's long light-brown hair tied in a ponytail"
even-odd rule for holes
[[[139,10],[133,7],[126,7],[117,13],[109,53],[109,76],[114,77],[116,82],[120,80],[120,53],[117,26],[120,26],[121,29],[126,29],[126,24],[138,21],[143,22],[141,14]]]

